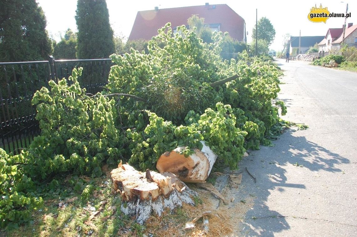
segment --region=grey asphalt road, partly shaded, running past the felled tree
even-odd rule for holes
[[[240,236],[357,236],[357,73],[278,60],[283,119],[305,123],[240,163]],[[298,164],[295,166],[294,164]],[[301,167],[301,166],[302,167]]]

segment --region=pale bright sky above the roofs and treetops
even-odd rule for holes
[[[45,12],[47,19],[46,29],[51,37],[59,41],[60,34],[64,35],[67,28],[77,31],[76,0],[37,0],[39,5]],[[281,51],[283,35],[286,33],[292,36],[325,36],[328,28],[341,28],[345,19],[342,17],[329,18],[326,24],[323,22],[315,23],[307,19],[311,7],[316,6],[327,7],[328,11],[334,13],[346,12],[346,4],[348,3],[348,12],[351,12],[351,17],[347,19],[346,24],[357,24],[357,1],[332,1],[320,0],[318,2],[300,0],[300,1],[196,1],[196,0],[180,0],[180,1],[122,1],[122,0],[107,0],[109,10],[109,20],[114,34],[117,36],[129,37],[131,28],[138,11],[154,10],[157,6],[159,9],[171,7],[197,6],[205,5],[209,2],[214,4],[227,4],[238,15],[243,17],[246,22],[246,30],[248,32],[247,41],[252,41],[251,33],[255,27],[256,9],[258,12],[258,20],[261,17],[267,17],[275,28],[276,35],[270,49]]]

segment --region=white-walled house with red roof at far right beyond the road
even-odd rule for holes
[[[357,25],[348,23],[345,30],[345,43],[348,46],[357,46]],[[330,28],[327,30],[325,38],[318,43],[320,52],[338,51],[341,49],[341,43],[343,38],[343,26],[342,28]]]

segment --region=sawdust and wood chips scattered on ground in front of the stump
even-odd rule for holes
[[[240,230],[238,225],[243,221],[245,213],[253,206],[253,197],[244,200],[235,200],[238,192],[237,188],[226,186],[221,191],[225,200],[235,200],[224,205],[217,197],[210,192],[191,187],[198,193],[202,204],[196,207],[183,204],[182,208],[176,213],[170,214],[166,211],[162,217],[152,216],[146,222],[147,233],[155,236],[236,236]],[[218,206],[218,208],[217,208]],[[212,211],[208,217],[208,233],[203,231],[202,219],[196,222],[196,226],[190,230],[184,230],[185,223],[192,221],[193,218],[205,211]]]

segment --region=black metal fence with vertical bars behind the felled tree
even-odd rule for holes
[[[48,82],[68,78],[75,67],[83,67],[79,82],[88,93],[102,91],[108,81],[110,58],[90,60],[3,62],[0,63],[0,148],[17,154],[38,135],[34,93]]]

